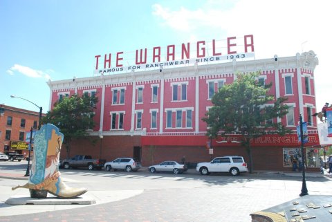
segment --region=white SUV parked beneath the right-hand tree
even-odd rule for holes
[[[237,176],[240,172],[248,172],[248,168],[242,156],[221,156],[210,163],[198,163],[196,172],[201,172],[202,175],[229,172],[232,176]]]

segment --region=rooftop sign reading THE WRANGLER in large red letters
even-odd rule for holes
[[[254,36],[196,41],[179,46],[140,48],[134,52],[95,55],[95,74],[128,73],[190,64],[213,64],[254,57]],[[124,64],[127,64],[124,66]]]

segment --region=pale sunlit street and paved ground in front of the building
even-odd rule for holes
[[[61,169],[71,187],[86,187],[92,205],[8,205],[13,196],[30,197],[23,185],[26,161],[0,162],[0,221],[251,221],[250,213],[299,197],[302,174],[256,172],[201,176]],[[2,175],[2,176],[1,176]],[[3,176],[5,175],[5,176]],[[14,176],[10,176],[14,175]],[[310,195],[332,195],[330,174],[308,173]]]

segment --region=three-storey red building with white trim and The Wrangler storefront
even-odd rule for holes
[[[108,61],[105,55],[104,66]],[[196,60],[195,64],[184,66],[157,63],[154,69],[132,69],[111,75],[100,72],[102,75],[94,77],[48,82],[50,104],[74,93],[99,98],[95,129],[90,132],[98,142],[75,140],[71,156],[89,154],[107,160],[129,156],[145,166],[163,160],[180,161],[183,156],[189,163],[222,155],[239,155],[248,160],[239,135],[212,140],[213,154],[209,153],[207,126],[201,119],[212,106],[214,93],[224,84],[234,82],[237,72],[261,71],[258,81],[273,82],[270,93],[275,98],[288,98],[288,115],[273,121],[282,122],[293,133],[253,140],[254,169],[291,170],[291,158],[300,155],[296,133],[300,113],[308,122],[308,169],[317,169],[320,148],[317,120],[312,117],[316,112],[314,70],[317,64],[313,51],[268,59],[229,59],[214,63],[208,59],[204,63]],[[65,155],[63,151],[62,157]]]

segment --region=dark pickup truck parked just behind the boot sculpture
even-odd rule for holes
[[[60,165],[64,169],[78,168],[78,167],[88,167],[89,170],[102,169],[104,167],[106,160],[93,159],[88,155],[75,155],[73,158],[62,160]]]

